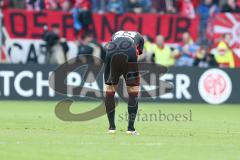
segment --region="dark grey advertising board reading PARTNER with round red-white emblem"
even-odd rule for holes
[[[81,96],[67,96],[54,92],[54,90],[49,87],[48,80],[49,75],[57,68],[58,66],[54,65],[0,64],[0,100],[57,101],[73,99],[74,101],[98,101],[94,98],[84,97],[84,94]],[[83,78],[83,73],[83,68],[74,70],[69,77],[69,83],[79,85]],[[95,83],[83,85],[89,88],[103,90],[104,82],[102,71],[99,72],[99,75]],[[161,78],[162,81],[170,82],[173,90],[167,94],[160,94],[161,96],[158,97],[144,98],[142,101],[211,104],[240,103],[240,69],[171,67],[163,76],[153,74],[149,76],[149,78],[155,80]],[[202,81],[203,84],[201,84],[200,81]],[[151,87],[143,85],[142,90],[151,90]],[[211,99],[206,100],[206,97],[203,96],[204,94],[208,94],[208,92],[216,95],[213,97],[213,101],[215,98],[215,102],[212,102]],[[86,94],[93,94],[97,98],[103,96],[102,94],[96,95],[94,92]],[[217,99],[219,99],[219,102]],[[221,102],[221,99],[226,100]]]

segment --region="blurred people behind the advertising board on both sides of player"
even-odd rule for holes
[[[59,30],[56,28],[46,32],[44,36],[48,44],[47,63],[50,64],[62,64],[67,60],[68,45],[60,39],[58,33]],[[158,35],[155,39],[148,36],[144,38],[145,45],[143,54],[139,57],[140,62],[153,62],[167,67],[235,68],[235,54],[229,45],[231,36],[228,34],[211,47],[197,44],[187,32],[182,36],[182,43],[175,45],[166,44],[162,35]],[[89,32],[82,34],[76,43],[78,56],[87,54],[100,59],[105,58],[104,46],[96,41],[93,34]]]

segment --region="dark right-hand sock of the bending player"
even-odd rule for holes
[[[130,95],[128,100],[128,131],[135,131],[134,122],[138,111],[138,96]]]

